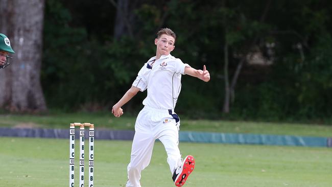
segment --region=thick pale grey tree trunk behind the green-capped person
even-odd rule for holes
[[[44,0],[0,0],[1,32],[15,51],[0,72],[0,107],[19,112],[46,111],[40,84]],[[7,5],[7,7],[3,7]]]

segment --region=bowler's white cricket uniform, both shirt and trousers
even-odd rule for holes
[[[144,108],[135,123],[135,135],[128,165],[127,186],[139,187],[140,173],[151,160],[156,139],[164,145],[170,171],[181,164],[179,144],[180,119],[174,108],[181,90],[181,75],[185,66],[172,55],[162,55],[158,60],[152,57],[138,72],[133,86],[140,91],[148,90]]]

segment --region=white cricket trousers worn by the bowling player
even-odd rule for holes
[[[181,165],[179,126],[167,109],[145,106],[138,114],[128,165],[127,187],[140,187],[140,172],[150,163],[156,139],[164,145],[171,173]],[[170,179],[172,177],[170,176]]]

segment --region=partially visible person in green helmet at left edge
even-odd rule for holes
[[[8,54],[15,53],[10,45],[10,41],[8,37],[2,33],[0,33],[0,69],[7,67],[10,63],[8,62],[9,58]]]

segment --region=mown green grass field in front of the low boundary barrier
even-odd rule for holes
[[[0,186],[68,186],[68,139],[0,137],[0,141]],[[94,186],[124,186],[130,148],[130,141],[96,139]],[[180,143],[180,150],[182,155],[196,157],[195,172],[185,184],[188,187],[332,184],[330,148]],[[142,173],[142,186],[175,186],[166,158],[162,144],[156,142],[150,166]]]

